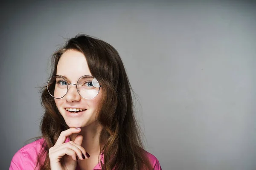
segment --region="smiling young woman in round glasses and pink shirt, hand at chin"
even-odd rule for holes
[[[143,149],[131,85],[107,42],[77,35],[55,51],[41,104],[42,137],[15,153],[10,170],[161,170]]]

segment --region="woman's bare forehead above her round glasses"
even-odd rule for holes
[[[74,81],[81,76],[91,75],[84,54],[75,50],[67,50],[62,54],[57,65],[56,74],[66,76]]]

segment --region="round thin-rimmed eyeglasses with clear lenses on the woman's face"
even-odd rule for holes
[[[46,87],[52,97],[61,99],[67,94],[70,85],[76,85],[77,92],[84,99],[93,99],[99,94],[99,89],[102,87],[95,77],[89,75],[80,77],[76,84],[68,83],[62,76],[52,76],[49,78]]]

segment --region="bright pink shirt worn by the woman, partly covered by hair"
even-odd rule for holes
[[[70,139],[67,138],[65,142],[69,141]],[[9,170],[34,170],[37,161],[37,156],[40,153],[43,142],[43,138],[38,139],[35,142],[32,142],[20,148],[20,150],[18,150],[13,156]],[[150,159],[154,170],[162,170],[157,158],[151,153],[146,152],[146,154]],[[104,162],[103,153],[101,154],[100,159],[102,162]],[[36,170],[38,170],[38,168]],[[76,167],[76,170],[80,170],[79,166]],[[96,167],[93,168],[93,170],[101,170],[100,164],[97,164]]]

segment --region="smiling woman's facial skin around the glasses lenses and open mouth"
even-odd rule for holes
[[[91,76],[91,73],[84,54],[74,50],[67,50],[62,54],[58,62],[56,75],[63,76],[68,83],[76,84],[80,77],[84,75]],[[96,122],[96,112],[101,98],[102,88],[93,99],[84,99],[77,92],[76,85],[69,85],[67,94],[61,99],[55,99],[55,103],[69,127],[85,127]],[[67,111],[70,108],[86,110],[72,113]]]

